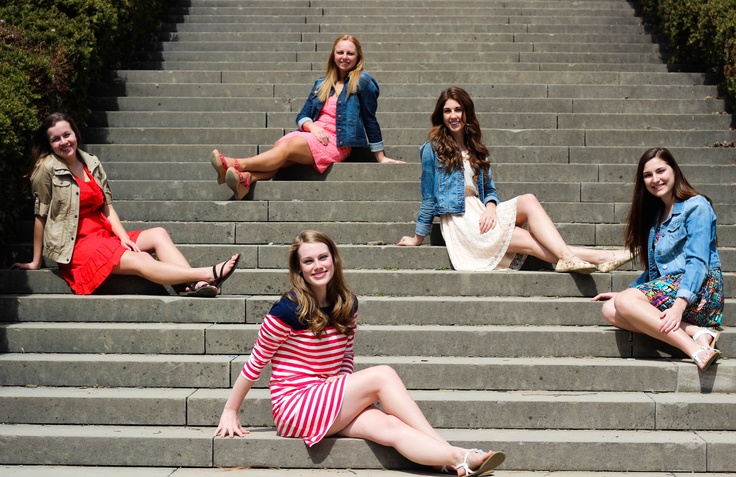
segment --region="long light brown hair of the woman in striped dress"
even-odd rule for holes
[[[319,307],[317,298],[301,275],[299,266],[299,247],[305,243],[323,243],[332,255],[335,271],[332,280],[327,284],[327,300],[332,305],[332,313],[327,316]],[[342,258],[335,242],[322,232],[303,230],[294,238],[289,251],[289,278],[293,286],[294,296],[285,296],[297,303],[297,318],[300,323],[309,325],[319,338],[328,322],[344,335],[353,333],[355,328],[353,314],[357,299],[345,283],[342,273]]]

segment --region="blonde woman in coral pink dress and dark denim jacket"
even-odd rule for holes
[[[378,83],[363,71],[360,42],[351,35],[340,36],[332,45],[325,76],[315,81],[297,116],[299,130],[247,159],[225,157],[215,149],[210,163],[217,171],[217,183],[227,183],[240,200],[253,182],[273,178],[282,167],[304,164],[323,173],[333,162],[347,159],[353,147],[370,147],[381,163],[401,162],[383,152],[376,119],[378,94]]]

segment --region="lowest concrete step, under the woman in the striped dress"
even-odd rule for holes
[[[244,439],[213,439],[212,428],[191,427],[6,425],[0,432],[8,442],[3,461],[16,465],[270,467],[278,462],[299,469],[417,467],[393,449],[360,439],[327,438],[310,449],[300,439],[283,439],[262,428],[252,429]],[[503,450],[507,470],[733,470],[730,432],[446,429],[441,434],[455,445]],[[129,452],[120,442],[137,451]],[[669,452],[671,456],[662,457]],[[628,458],[631,454],[638,458]]]

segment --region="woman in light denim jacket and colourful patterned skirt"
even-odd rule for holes
[[[670,151],[641,156],[626,226],[626,245],[644,272],[609,300],[603,317],[618,328],[644,333],[692,356],[706,371],[723,316],[723,275],[716,250],[716,215],[710,200],[682,175]]]

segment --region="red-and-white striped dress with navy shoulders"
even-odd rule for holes
[[[311,447],[322,440],[340,412],[345,380],[325,380],[353,372],[355,333],[344,335],[328,324],[317,338],[299,323],[296,308],[287,297],[271,307],[241,374],[256,381],[271,361],[269,388],[276,430],[284,437],[301,437]]]

